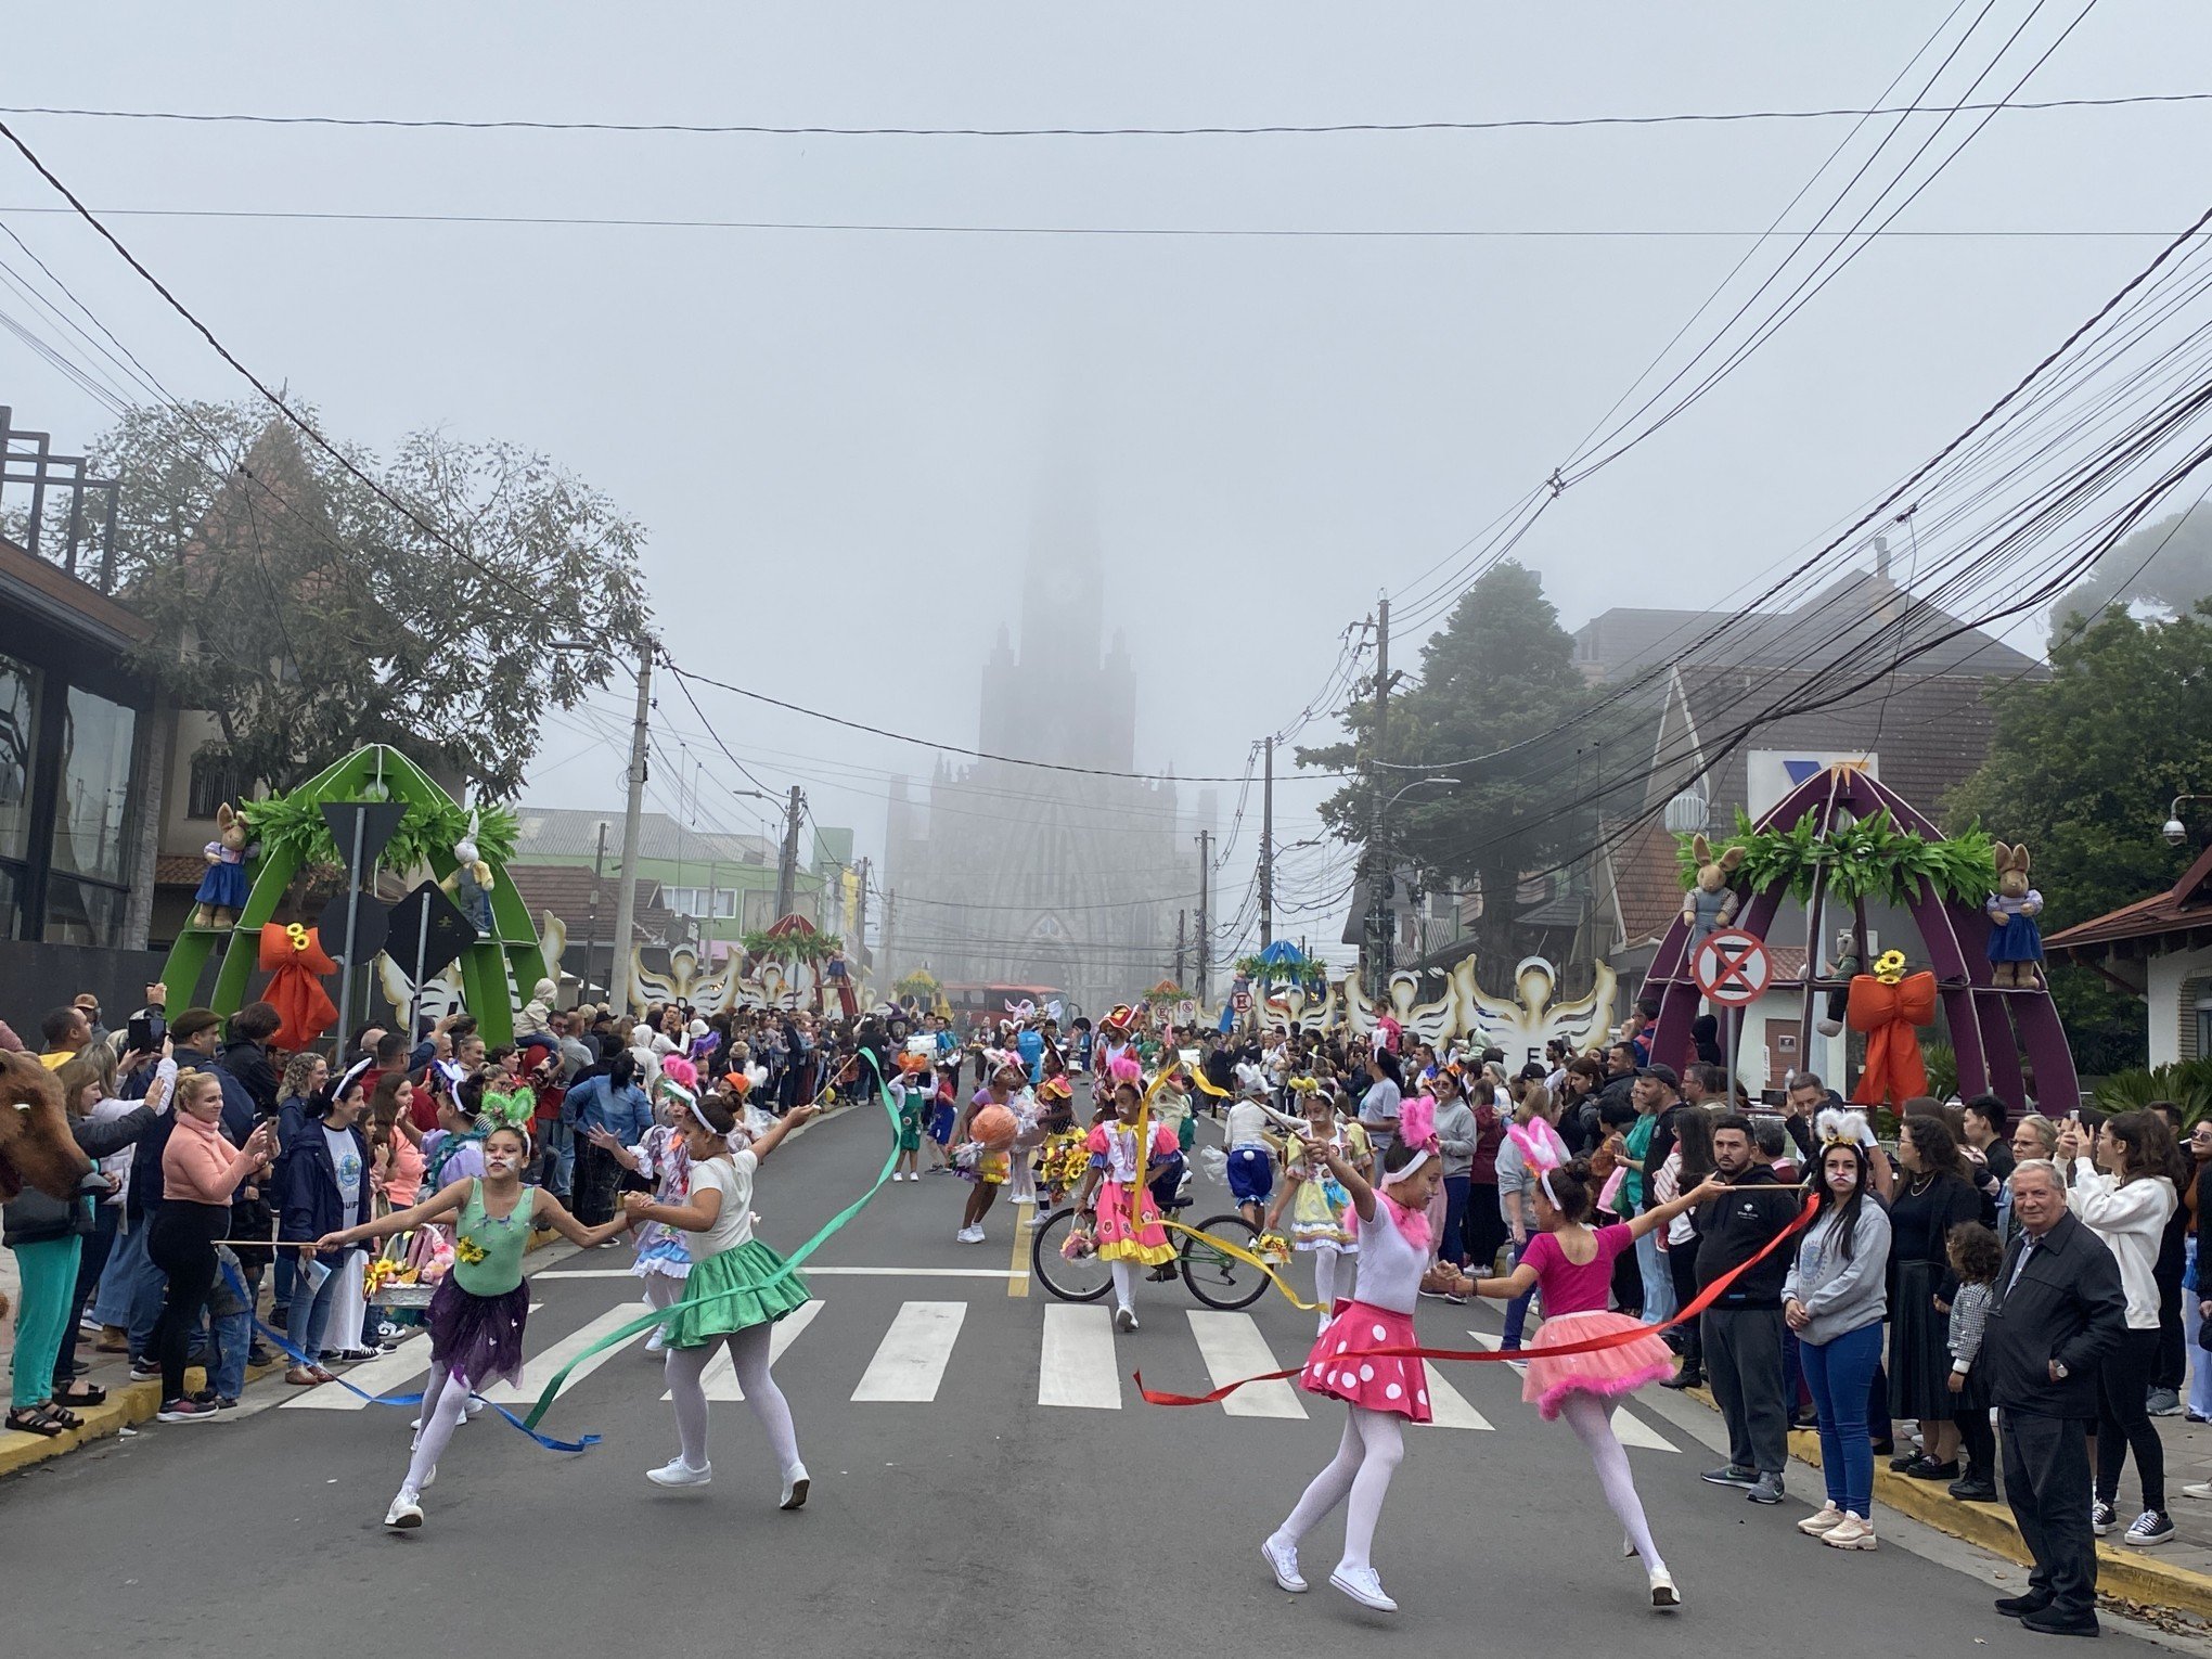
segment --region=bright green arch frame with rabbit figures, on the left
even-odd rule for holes
[[[314,774],[285,801],[321,807],[325,801],[405,801],[425,816],[460,812],[453,796],[414,761],[385,743],[369,743],[354,750],[336,765]],[[425,847],[431,876],[445,880],[453,874],[453,852],[445,845]],[[515,1011],[507,995],[509,969],[524,995],[538,980],[546,978],[544,947],[531,925],[529,907],[507,878],[507,865],[491,858],[491,933],[460,953],[460,987],[476,1015],[484,1042],[511,1042],[515,1035]],[[190,995],[208,958],[221,947],[223,960],[215,973],[215,993],[208,1006],[221,1015],[232,1015],[246,1004],[246,987],[261,958],[261,929],[276,920],[276,905],[299,874],[299,843],[279,845],[261,856],[254,867],[254,885],[246,896],[234,929],[186,927],[168,951],[161,967],[161,982],[177,998]]]

